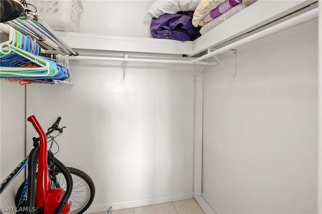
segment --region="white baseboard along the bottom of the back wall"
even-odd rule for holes
[[[112,210],[115,209],[125,209],[131,208],[136,206],[146,206],[156,203],[165,203],[175,200],[185,200],[193,198],[193,192],[181,193],[181,194],[172,194],[172,195],[164,195],[164,196],[157,196],[157,197],[149,197],[143,198],[138,200],[129,200],[129,201],[122,201],[117,203],[106,203],[100,205],[90,206],[85,213],[95,213],[95,212],[103,212],[107,211],[110,206],[112,206]]]

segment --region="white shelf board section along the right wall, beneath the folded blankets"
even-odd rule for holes
[[[215,47],[240,35],[281,19],[316,1],[258,0],[194,41],[191,55]]]

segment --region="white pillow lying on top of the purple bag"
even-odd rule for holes
[[[201,0],[156,0],[145,16],[145,20],[151,21],[163,14],[176,14],[179,11],[194,11]]]

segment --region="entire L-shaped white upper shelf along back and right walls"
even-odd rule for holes
[[[258,0],[194,42],[57,32],[74,49],[195,55],[303,9],[316,1]]]

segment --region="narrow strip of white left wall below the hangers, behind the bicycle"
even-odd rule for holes
[[[25,157],[25,86],[19,83],[0,83],[1,138],[0,181],[2,182]],[[0,207],[15,206],[14,198],[25,178],[24,171],[0,195]]]

